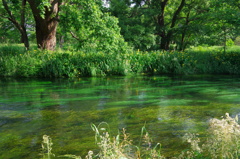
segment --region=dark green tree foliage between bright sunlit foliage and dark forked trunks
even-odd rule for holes
[[[135,49],[151,50],[156,44],[152,10],[130,0],[111,0],[108,11],[118,18],[121,34]]]

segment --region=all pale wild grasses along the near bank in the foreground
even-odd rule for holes
[[[98,126],[92,124],[98,151],[89,151],[86,159],[164,159],[161,144],[152,145],[152,139],[145,126],[142,128],[139,144],[134,145],[130,135],[123,129],[117,136],[110,135],[107,123]],[[190,144],[189,149],[172,159],[236,159],[240,157],[240,125],[238,117],[232,118],[226,113],[221,120],[213,118],[209,121],[207,139],[200,141],[198,134],[186,133],[183,140]],[[52,140],[43,136],[43,159],[50,159]],[[81,156],[62,155],[58,157],[81,159]]]

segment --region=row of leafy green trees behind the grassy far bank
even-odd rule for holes
[[[226,46],[239,39],[239,12],[238,0],[2,0],[0,41],[112,53]]]

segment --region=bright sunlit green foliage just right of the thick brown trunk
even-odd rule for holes
[[[60,25],[72,34],[82,50],[126,52],[128,47],[120,35],[117,18],[103,13],[100,8],[94,0],[66,3]]]

